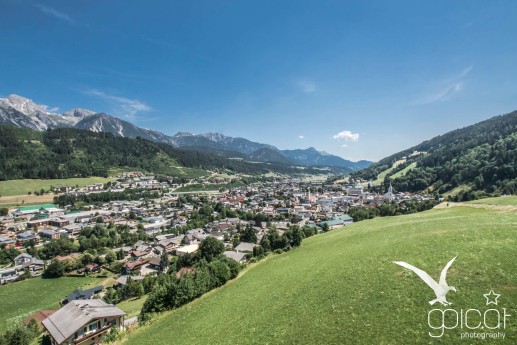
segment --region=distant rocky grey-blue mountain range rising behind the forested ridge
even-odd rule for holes
[[[227,158],[242,158],[251,161],[281,163],[302,166],[329,166],[357,171],[372,162],[352,162],[341,157],[318,151],[313,147],[298,150],[280,150],[273,145],[257,143],[245,138],[225,136],[220,133],[194,134],[178,132],[169,136],[159,131],[141,128],[105,113],[74,108],[58,114],[32,100],[10,95],[0,98],[0,124],[43,131],[52,128],[71,127],[92,132],[113,133],[127,138],[143,138],[165,143],[178,148],[198,151],[217,151]]]

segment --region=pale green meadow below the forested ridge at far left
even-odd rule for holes
[[[26,179],[26,180],[10,180],[0,181],[0,195],[24,195],[28,192],[34,193],[39,192],[42,188],[45,191],[50,190],[50,186],[59,185],[70,185],[79,187],[86,186],[93,183],[106,183],[113,181],[113,178],[104,177],[87,177],[87,178],[69,178],[69,179],[55,179],[55,180],[39,180],[39,179]]]

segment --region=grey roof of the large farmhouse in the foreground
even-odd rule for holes
[[[124,315],[126,315],[125,312],[103,300],[79,300],[71,301],[43,320],[42,324],[52,338],[61,344],[92,320]]]

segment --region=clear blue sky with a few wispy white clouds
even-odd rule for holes
[[[515,1],[0,0],[0,96],[378,160],[517,109]]]

